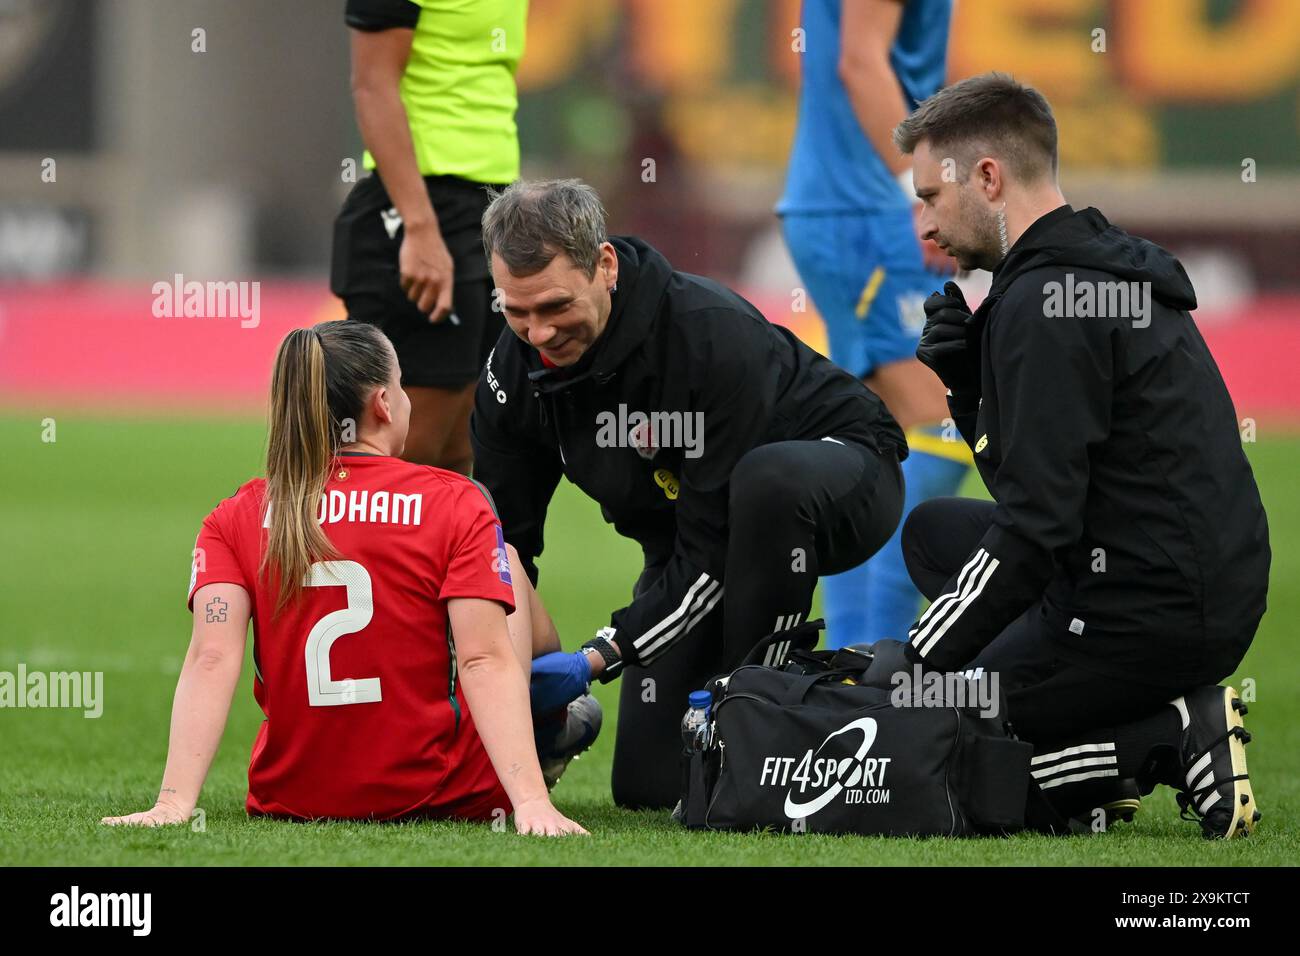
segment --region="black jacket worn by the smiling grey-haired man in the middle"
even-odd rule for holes
[[[598,501],[647,561],[666,562],[611,619],[624,663],[645,665],[722,600],[728,483],[746,451],[828,436],[900,459],[907,446],[862,382],[740,295],[675,272],[641,239],[611,242],[619,281],[604,330],[573,365],[546,368],[507,328],[478,382],[471,438],[474,477],[491,492],[506,540],[534,583],[560,473]],[[641,440],[637,449],[625,441],[633,412],[702,421],[702,434],[694,447]]]

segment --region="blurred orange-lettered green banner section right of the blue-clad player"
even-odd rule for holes
[[[1066,166],[1300,169],[1295,0],[968,0],[952,69],[1043,90]]]

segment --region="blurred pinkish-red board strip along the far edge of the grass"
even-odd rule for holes
[[[285,334],[344,316],[324,284],[289,280],[257,281],[252,312],[181,308],[181,278],[0,282],[0,408],[257,414]],[[737,291],[826,349],[815,315],[790,315],[788,299],[762,289]],[[1300,295],[1260,297],[1197,319],[1236,407],[1261,421],[1300,423],[1292,385]]]

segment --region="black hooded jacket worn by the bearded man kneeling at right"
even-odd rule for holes
[[[1195,308],[1178,260],[1096,209],[1019,238],[975,311],[980,394],[949,399],[997,507],[911,630],[923,657],[962,666],[1040,602],[1062,657],[1096,672],[1236,667],[1265,609],[1268,523]]]

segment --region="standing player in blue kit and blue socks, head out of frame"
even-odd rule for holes
[[[945,389],[916,360],[922,303],[956,261],[918,239],[911,159],[890,134],[944,85],[953,0],[803,0],[798,126],[776,207],[826,321],[831,359],[858,375],[906,429],[904,515],[953,494],[970,451]],[[901,525],[900,525],[901,527]],[[920,596],[898,532],[867,563],[824,580],[832,646],[905,639]]]

